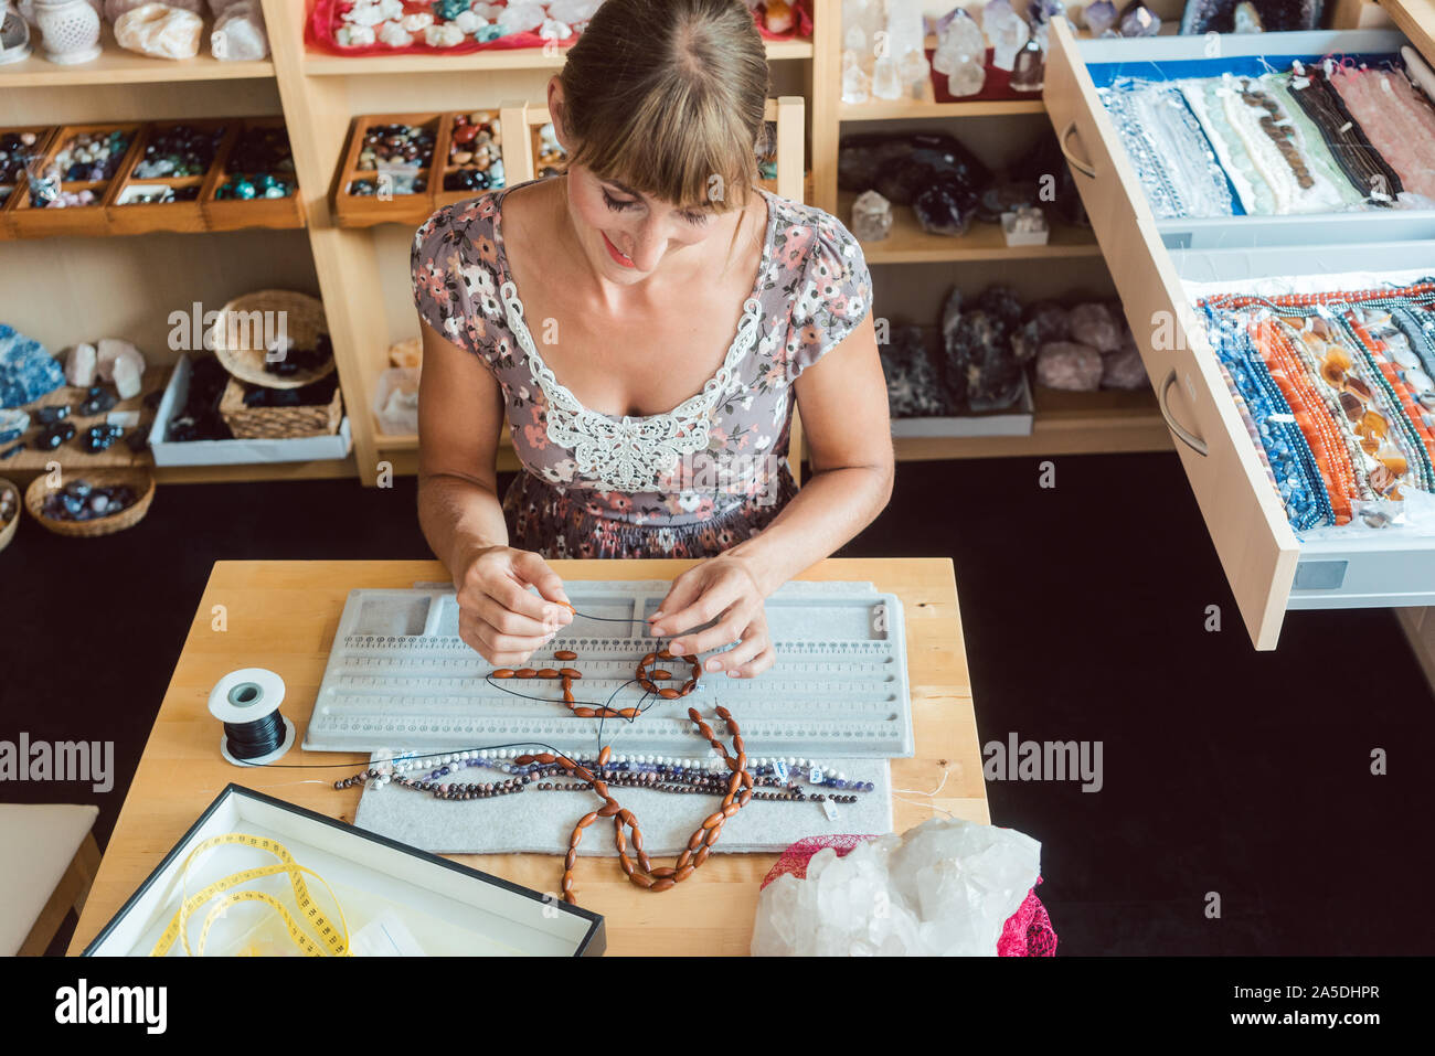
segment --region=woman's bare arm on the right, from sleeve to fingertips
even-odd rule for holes
[[[871,313],[792,386],[812,479],[763,531],[679,575],[650,623],[653,634],[666,636],[722,617],[669,646],[689,654],[739,643],[709,657],[709,671],[752,677],[771,667],[762,600],[857,535],[891,498],[887,382]]]

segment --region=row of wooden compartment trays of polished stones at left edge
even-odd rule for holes
[[[281,118],[9,129],[0,151],[14,237],[303,227]]]

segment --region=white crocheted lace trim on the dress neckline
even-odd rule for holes
[[[663,415],[624,415],[618,419],[588,410],[554,377],[528,333],[524,306],[512,281],[499,287],[499,297],[508,314],[508,329],[524,350],[528,373],[548,400],[548,439],[573,452],[578,475],[618,492],[657,491],[659,476],[677,469],[684,456],[707,448],[712,410],[738,387],[738,366],[756,344],[762,323],[762,303],[749,297],[742,306],[738,336],[702,392]]]

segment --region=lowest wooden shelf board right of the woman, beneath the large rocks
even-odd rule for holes
[[[1157,397],[1144,392],[1036,389],[1030,436],[897,438],[898,462],[1171,451]]]

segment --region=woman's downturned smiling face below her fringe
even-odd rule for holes
[[[669,254],[726,227],[712,209],[660,202],[581,165],[568,169],[568,212],[588,263],[623,284],[643,281]]]

